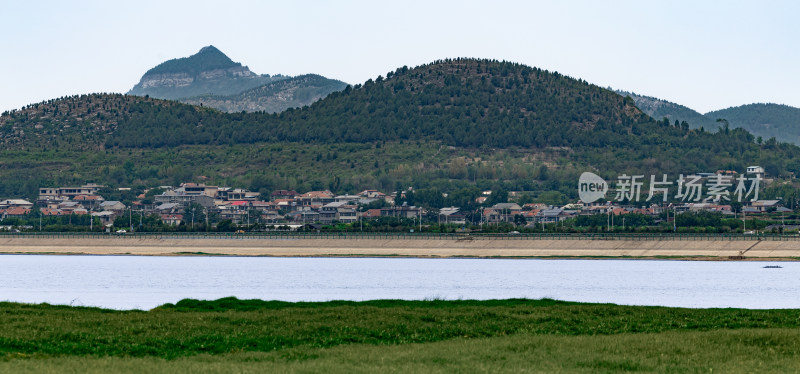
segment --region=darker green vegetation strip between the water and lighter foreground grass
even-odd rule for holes
[[[506,336],[797,329],[797,310],[682,309],[555,300],[182,300],[151,311],[0,303],[0,357],[286,351]]]

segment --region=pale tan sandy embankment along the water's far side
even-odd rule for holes
[[[708,257],[800,259],[800,241],[535,239],[0,238],[0,253],[410,257]]]

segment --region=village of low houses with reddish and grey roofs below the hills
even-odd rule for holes
[[[763,173],[762,170],[758,170]],[[760,178],[760,177],[759,177]],[[183,183],[177,187],[159,186],[144,190],[131,201],[107,200],[100,195],[106,186],[85,184],[80,187],[43,187],[35,202],[25,199],[0,201],[2,228],[14,229],[8,224],[14,218],[39,218],[86,216],[90,224],[98,222],[109,230],[119,217],[127,217],[126,229],[136,230],[133,216],[157,217],[162,225],[214,226],[223,221],[242,227],[277,227],[297,229],[304,225],[355,224],[379,217],[405,218],[414,225],[449,224],[460,226],[510,224],[519,228],[544,229],[549,224],[559,224],[580,216],[605,215],[608,226],[625,225],[625,215],[649,217],[666,216],[667,220],[684,212],[716,212],[734,218],[743,215],[793,213],[780,200],[744,201],[738,209],[730,203],[695,201],[677,204],[601,200],[593,203],[581,201],[553,206],[528,202],[518,204],[519,192],[510,192],[507,201],[490,203],[492,191],[483,191],[475,199],[473,208],[443,207],[441,209],[409,206],[402,201],[413,191],[383,193],[364,190],[358,194],[336,195],[331,191],[292,190],[272,191],[268,196],[242,188],[220,187],[202,183]],[[118,188],[118,191],[130,191]],[[107,191],[107,190],[106,190]],[[401,199],[398,199],[401,198]],[[477,207],[477,208],[474,208]],[[619,217],[616,218],[615,217]],[[672,218],[670,218],[672,217]],[[616,222],[614,222],[616,220]],[[117,221],[119,222],[119,221]],[[631,222],[631,221],[629,221]],[[117,223],[116,226],[120,226]],[[31,227],[29,227],[31,228]],[[119,227],[116,227],[119,229]]]

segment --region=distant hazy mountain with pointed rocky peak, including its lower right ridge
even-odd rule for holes
[[[202,103],[226,112],[274,113],[309,105],[346,85],[318,75],[258,75],[208,46],[148,70],[128,94]]]

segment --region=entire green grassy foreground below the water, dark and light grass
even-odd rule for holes
[[[552,300],[0,303],[3,372],[797,372],[800,311]]]

